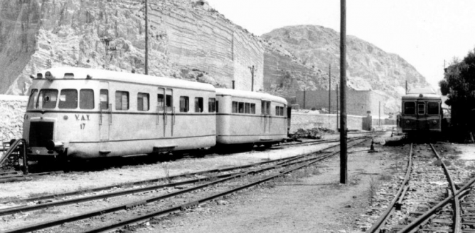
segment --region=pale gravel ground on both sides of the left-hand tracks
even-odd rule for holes
[[[390,133],[387,134],[389,136]],[[353,136],[353,135],[352,135]],[[331,137],[338,137],[333,135]],[[326,138],[329,138],[328,136]],[[385,140],[375,140],[385,142]],[[160,164],[125,166],[106,171],[47,176],[33,181],[1,184],[0,199],[28,197],[38,193],[60,193],[80,188],[105,186],[182,174],[184,172],[250,164],[319,150],[326,145],[269,149],[203,159],[182,159]],[[348,184],[339,184],[339,159],[317,165],[317,174],[265,183],[236,195],[200,205],[198,208],[144,223],[137,232],[360,232],[356,224],[369,207],[370,182],[393,173],[391,164],[400,155],[391,147],[375,145],[379,153],[369,154],[369,144],[350,150]],[[393,153],[393,154],[392,154]],[[7,227],[8,228],[8,227]],[[127,230],[126,230],[127,232]]]

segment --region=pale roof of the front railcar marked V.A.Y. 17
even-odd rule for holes
[[[132,74],[127,72],[114,72],[105,69],[87,69],[78,67],[58,67],[43,70],[41,73],[45,76],[46,72],[51,72],[55,79],[64,79],[65,73],[73,73],[74,79],[86,79],[87,75],[94,79],[107,79],[111,81],[127,81],[137,84],[163,85],[177,88],[202,89],[204,91],[215,91],[211,84],[203,84],[195,81],[186,81],[181,79],[171,79],[162,76],[151,76],[145,74]]]

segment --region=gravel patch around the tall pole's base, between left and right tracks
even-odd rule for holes
[[[317,165],[317,175],[250,188],[146,222],[137,232],[360,232],[356,221],[368,208],[369,183],[390,164],[385,149],[369,154],[368,148],[363,144],[348,154],[347,185],[339,183],[339,159],[333,157]]]

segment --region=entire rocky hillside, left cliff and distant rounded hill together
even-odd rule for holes
[[[49,67],[144,73],[144,1],[0,0],[0,94],[24,95],[30,74]],[[302,25],[258,37],[204,0],[149,1],[149,74],[292,97],[339,79],[339,35]],[[348,36],[348,85],[379,90],[397,110],[405,80],[425,79],[397,55]],[[389,106],[389,107],[388,107]]]

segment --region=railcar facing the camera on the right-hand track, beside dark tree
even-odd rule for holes
[[[402,96],[400,126],[402,132],[434,133],[442,131],[442,98],[430,89],[412,89]]]

